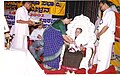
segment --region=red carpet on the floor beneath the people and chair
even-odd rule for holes
[[[43,64],[39,64],[39,66],[41,67],[42,70],[44,70],[45,74],[66,74],[66,72],[68,71],[68,70],[65,70],[65,69],[51,71],[51,70],[45,69],[43,67]],[[106,69],[102,72],[99,72],[99,73],[95,73],[96,68],[97,68],[97,65],[93,65],[93,67],[88,70],[88,74],[116,74],[116,70],[115,70],[115,67],[113,65],[110,66],[108,69]],[[69,70],[69,72],[72,73],[72,71],[70,71],[70,70]],[[74,73],[75,74],[86,74],[86,70],[84,68],[81,68],[81,69],[78,69],[78,70],[74,70]]]

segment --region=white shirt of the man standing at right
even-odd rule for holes
[[[99,26],[99,31],[102,30],[104,26],[108,26],[109,28],[100,36],[100,41],[105,42],[114,42],[114,33],[115,33],[115,14],[108,8],[103,12],[102,20],[100,21],[102,24]]]

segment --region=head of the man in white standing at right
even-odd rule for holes
[[[112,6],[112,2],[107,1],[107,0],[102,0],[99,3],[100,10],[105,11],[106,9],[110,8]]]

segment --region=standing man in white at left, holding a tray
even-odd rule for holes
[[[27,49],[28,25],[33,25],[29,20],[28,10],[31,8],[30,1],[23,1],[23,6],[18,8],[15,15],[15,36],[12,40],[12,48]]]

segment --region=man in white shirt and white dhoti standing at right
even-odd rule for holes
[[[104,71],[110,65],[115,32],[115,14],[110,6],[109,1],[100,2],[100,9],[104,12],[97,34],[99,45],[94,58],[94,64],[98,64],[96,73]]]

